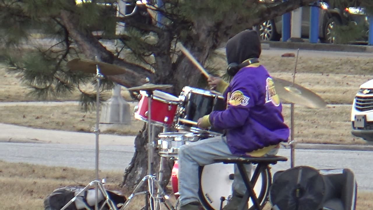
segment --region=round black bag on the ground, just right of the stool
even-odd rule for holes
[[[275,173],[269,200],[275,210],[319,210],[334,196],[332,188],[318,170],[298,166]]]

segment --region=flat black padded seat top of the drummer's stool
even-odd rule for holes
[[[288,158],[282,156],[270,156],[270,157],[245,157],[245,156],[224,156],[214,158],[214,161],[217,163],[243,163],[243,164],[276,164],[277,161],[287,161]]]

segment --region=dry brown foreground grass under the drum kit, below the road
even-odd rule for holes
[[[100,178],[106,179],[106,189],[121,191],[126,197],[131,194],[118,186],[122,172],[100,171]],[[54,189],[76,184],[86,186],[94,179],[94,170],[0,161],[0,210],[44,210],[44,199]],[[359,191],[356,210],[372,209],[372,196],[372,192]],[[171,196],[170,200],[174,203],[175,198]],[[134,197],[127,209],[140,209],[143,205],[141,195]],[[269,204],[266,207],[269,210]]]

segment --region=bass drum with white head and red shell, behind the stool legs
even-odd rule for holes
[[[256,165],[253,165],[251,176],[254,173]],[[172,169],[172,189],[176,197],[178,197],[178,164],[177,161]],[[222,207],[227,204],[227,199],[232,197],[232,183],[234,174],[234,164],[214,163],[206,166],[201,166],[199,171],[200,189],[198,196],[201,204],[206,210],[219,210],[221,204],[221,197],[226,200],[223,201]],[[272,184],[272,176],[269,167],[263,170],[254,186],[254,191],[258,197],[261,207],[267,203],[269,195],[269,188]],[[255,207],[251,199],[249,199],[249,210],[254,210]]]

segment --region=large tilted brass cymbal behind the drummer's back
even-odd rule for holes
[[[291,81],[274,77],[272,79],[280,99],[309,108],[323,108],[326,106],[326,102],[311,90],[298,84],[293,84]]]

